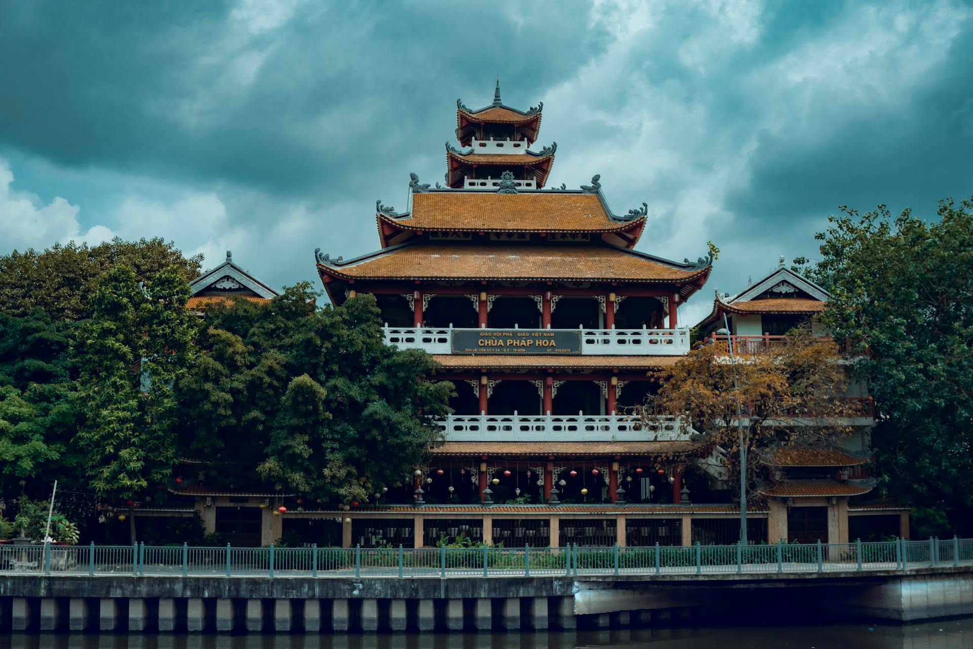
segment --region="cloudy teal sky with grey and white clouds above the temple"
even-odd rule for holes
[[[962,2],[0,2],[0,253],[160,235],[316,281],[375,200],[441,180],[455,100],[544,102],[556,183],[595,173],[639,249],[736,292],[847,203],[973,195]]]

